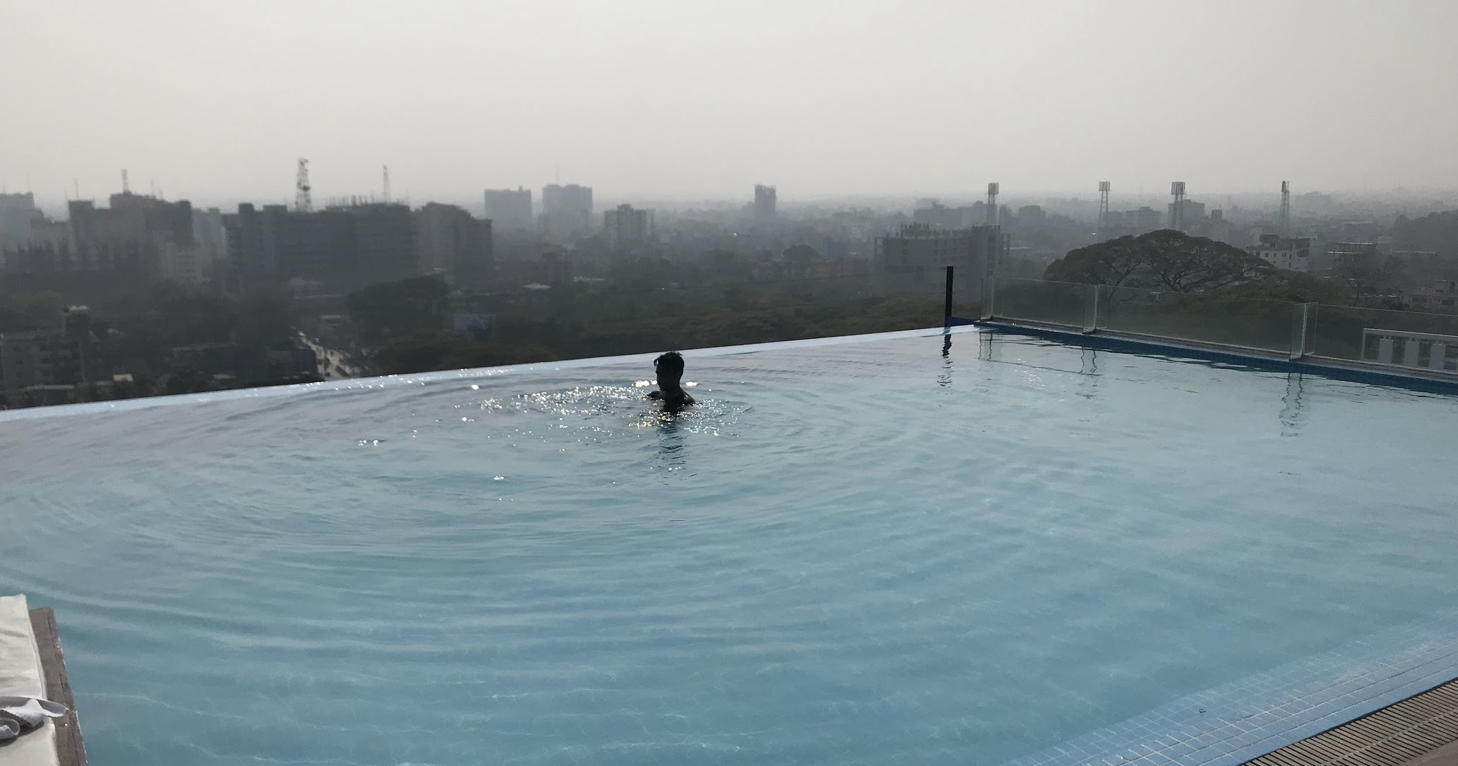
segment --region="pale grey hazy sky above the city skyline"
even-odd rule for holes
[[[0,0],[0,182],[1458,185],[1458,0]]]

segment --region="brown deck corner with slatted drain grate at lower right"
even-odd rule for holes
[[[1458,681],[1413,695],[1244,766],[1458,766]]]

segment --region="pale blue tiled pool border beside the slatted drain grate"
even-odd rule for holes
[[[1238,766],[1458,678],[1458,611],[1207,689],[1003,766]]]

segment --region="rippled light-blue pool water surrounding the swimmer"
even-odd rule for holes
[[[1458,604],[1458,398],[964,333],[0,422],[108,765],[996,765]]]

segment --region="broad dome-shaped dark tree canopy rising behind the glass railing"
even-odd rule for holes
[[[1044,279],[1204,292],[1270,279],[1280,271],[1238,247],[1161,229],[1072,249],[1048,264]]]

